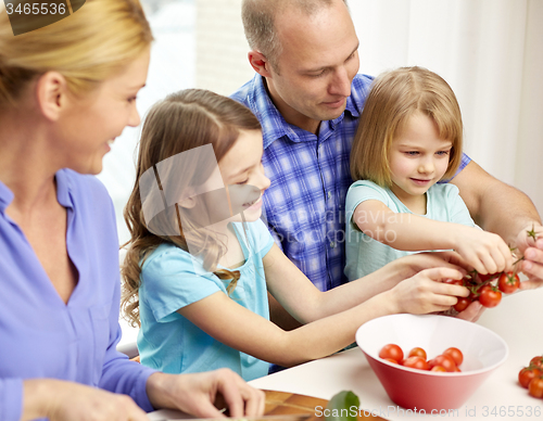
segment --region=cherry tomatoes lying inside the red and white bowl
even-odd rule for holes
[[[389,362],[419,370],[455,372],[460,371],[459,366],[464,361],[464,355],[458,348],[446,348],[442,354],[430,360],[427,359],[426,350],[415,347],[404,359],[404,353],[396,344],[387,344],[379,352],[379,358]]]

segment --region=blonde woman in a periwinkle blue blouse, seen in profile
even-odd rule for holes
[[[0,419],[147,420],[263,412],[235,373],[171,375],[115,350],[118,242],[92,175],[140,122],[152,35],[137,0],[88,0],[14,36],[0,13]]]

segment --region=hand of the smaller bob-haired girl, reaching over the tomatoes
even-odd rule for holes
[[[455,232],[455,250],[479,273],[513,270],[513,255],[497,234],[459,226]]]

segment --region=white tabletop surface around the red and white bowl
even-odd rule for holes
[[[387,395],[361,349],[350,349],[250,382],[264,390],[283,391],[330,399],[340,391],[353,391],[361,408],[390,420],[543,420],[543,399],[528,395],[517,375],[530,359],[543,354],[543,290],[507,296],[488,309],[479,323],[501,335],[509,356],[457,411],[440,416],[401,411]],[[539,409],[539,417],[534,413]],[[528,413],[531,411],[531,417]],[[399,413],[400,412],[400,413]],[[501,413],[502,412],[502,413]],[[508,413],[507,413],[508,412]]]

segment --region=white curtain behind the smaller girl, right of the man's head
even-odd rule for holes
[[[465,151],[543,212],[543,1],[351,0],[361,72],[420,65],[454,89]]]

